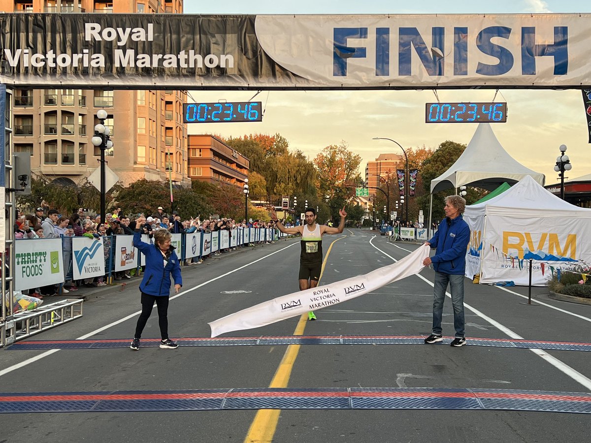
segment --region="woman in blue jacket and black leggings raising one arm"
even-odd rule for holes
[[[147,228],[144,227],[144,230]],[[147,233],[147,232],[146,232]],[[171,246],[172,234],[166,229],[158,229],[154,233],[154,245],[144,243],[141,240],[141,232],[138,229],[134,234],[134,246],[137,247],[146,258],[144,279],[139,285],[142,298],[142,313],[139,314],[138,323],[135,327],[134,340],[131,342],[133,350],[139,350],[139,339],[156,302],[158,308],[158,325],[162,341],[160,347],[163,349],[174,349],[177,343],[168,338],[168,297],[170,297],[170,275],[174,278],[174,291],[178,292],[183,286],[181,278],[181,267],[178,262],[174,246]]]

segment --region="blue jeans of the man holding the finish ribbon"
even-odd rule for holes
[[[441,316],[443,315],[443,302],[447,284],[450,285],[453,305],[453,327],[456,329],[456,337],[464,338],[464,276],[450,275],[443,272],[435,272],[435,284],[433,286],[433,334],[441,334]]]

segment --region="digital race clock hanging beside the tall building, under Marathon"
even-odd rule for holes
[[[262,122],[261,102],[183,104],[183,123],[218,122]]]

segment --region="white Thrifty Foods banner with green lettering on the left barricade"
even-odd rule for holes
[[[61,239],[16,240],[14,244],[15,291],[64,281]]]

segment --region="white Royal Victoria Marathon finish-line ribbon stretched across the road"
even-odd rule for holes
[[[258,328],[368,294],[420,272],[424,268],[423,260],[429,256],[429,250],[428,245],[423,245],[393,265],[383,266],[365,275],[293,292],[226,315],[209,323],[212,337],[231,331]]]

